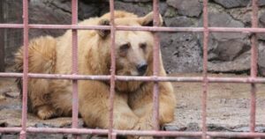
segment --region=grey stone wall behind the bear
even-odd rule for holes
[[[12,2],[15,3],[15,2]],[[18,3],[18,2],[16,2]],[[265,26],[265,0],[260,0],[259,26]],[[202,0],[161,0],[164,26],[202,26]],[[19,7],[18,7],[19,8]],[[116,0],[115,9],[132,11],[140,16],[152,11],[152,0]],[[31,0],[30,23],[70,24],[70,0]],[[79,0],[79,20],[101,16],[109,11],[108,0]],[[251,0],[209,0],[209,26],[250,27]],[[59,35],[55,30],[37,30]],[[250,70],[248,33],[210,33],[208,70],[211,72],[248,73]],[[265,76],[265,34],[259,34],[259,73]],[[163,63],[168,73],[201,72],[202,33],[161,33]]]

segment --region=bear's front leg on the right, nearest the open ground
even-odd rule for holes
[[[143,130],[153,129],[153,83],[143,86],[140,91],[129,96],[129,105],[140,117],[140,127]],[[174,120],[176,99],[172,85],[168,82],[159,83],[159,126]]]

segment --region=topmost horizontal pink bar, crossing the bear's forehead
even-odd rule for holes
[[[110,26],[74,26],[74,25],[28,25],[31,29],[88,29],[110,30]],[[23,28],[21,24],[0,24],[0,28]],[[150,31],[150,32],[203,32],[203,27],[162,27],[162,26],[116,26],[119,31]],[[209,32],[225,33],[265,33],[265,28],[243,27],[208,27]]]

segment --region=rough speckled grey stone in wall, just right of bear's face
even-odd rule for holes
[[[201,47],[194,33],[162,33],[163,64],[168,73],[201,70]]]

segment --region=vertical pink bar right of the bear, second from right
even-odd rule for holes
[[[207,98],[208,98],[208,0],[203,0],[203,84],[202,84],[202,139],[207,138]]]

